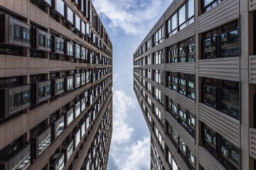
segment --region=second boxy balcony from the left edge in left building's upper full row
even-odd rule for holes
[[[32,48],[34,50],[51,52],[52,35],[38,28],[32,28]]]

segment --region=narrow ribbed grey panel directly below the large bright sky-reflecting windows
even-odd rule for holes
[[[195,36],[195,24],[194,23],[190,24],[183,30],[177,32],[173,36],[170,36],[169,38],[167,38],[164,42],[164,45],[167,47],[172,44],[176,44],[177,42],[180,42],[182,40],[185,40],[187,38],[191,38],[192,36]]]

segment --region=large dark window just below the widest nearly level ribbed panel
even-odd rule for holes
[[[203,102],[239,120],[239,83],[218,79],[203,79]]]

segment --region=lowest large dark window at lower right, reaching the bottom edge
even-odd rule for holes
[[[240,169],[240,149],[205,124],[203,124],[203,146],[226,169]]]

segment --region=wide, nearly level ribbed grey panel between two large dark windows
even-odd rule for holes
[[[239,56],[199,60],[199,77],[240,81]]]

